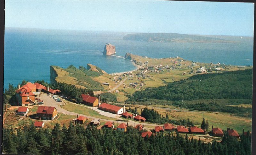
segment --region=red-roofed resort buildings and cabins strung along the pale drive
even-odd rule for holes
[[[142,137],[150,137],[152,134],[159,132],[180,134],[182,136],[188,135],[189,138],[201,139],[204,142],[212,142],[212,140],[221,140],[221,137],[225,134],[219,127],[213,127],[209,132],[201,129],[199,126],[181,126],[170,123],[162,125],[148,123],[147,120],[137,114],[127,112],[124,107],[111,105],[108,103],[102,103],[99,98],[89,96],[88,94],[82,94],[83,104],[89,107],[93,107],[95,111],[100,111],[100,114],[105,115],[107,119],[101,119],[92,117],[90,115],[81,115],[79,113],[69,112],[61,108],[61,105],[65,104],[65,97],[60,95],[60,90],[53,90],[49,87],[43,86],[39,83],[30,83],[16,90],[17,106],[12,106],[15,109],[16,115],[22,120],[24,117],[29,117],[32,120],[36,128],[44,128],[45,125],[51,123],[53,120],[57,120],[60,113],[72,114],[76,118],[70,120],[73,123],[77,123],[83,126],[88,124],[96,126],[97,129],[109,128],[118,130],[120,132],[126,132],[128,126],[132,126],[141,132]],[[74,103],[76,104],[76,103]],[[36,111],[34,114],[29,115],[29,111],[32,108]],[[108,118],[118,118],[117,120],[110,120]],[[123,119],[123,120],[122,120]],[[19,121],[17,120],[17,121]],[[121,123],[120,123],[121,121]],[[125,121],[125,123],[122,121]],[[16,128],[22,128],[20,126]],[[241,134],[247,135],[247,132],[242,131],[239,133],[236,130],[227,127],[226,132],[229,136],[239,138]],[[248,134],[251,134],[249,132]],[[209,140],[210,139],[210,140]]]

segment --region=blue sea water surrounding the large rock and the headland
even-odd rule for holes
[[[132,62],[104,56],[106,43],[116,46],[116,54],[129,52],[152,58],[180,56],[196,62],[252,65],[253,38],[235,43],[152,43],[123,40],[129,33],[85,32],[6,28],[4,47],[4,89],[22,80],[50,82],[50,66],[96,65],[107,73],[135,69]],[[236,38],[237,39],[237,38]]]

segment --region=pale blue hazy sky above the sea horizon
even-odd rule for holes
[[[254,3],[7,0],[5,27],[253,36]]]

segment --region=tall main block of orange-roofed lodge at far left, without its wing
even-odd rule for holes
[[[21,106],[33,105],[35,103],[35,94],[32,92],[36,92],[36,86],[30,82],[16,90],[17,104]]]

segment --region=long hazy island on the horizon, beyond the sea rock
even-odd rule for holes
[[[135,40],[146,42],[174,42],[174,43],[233,43],[234,41],[199,35],[187,35],[178,33],[137,33],[128,34],[123,40]]]

